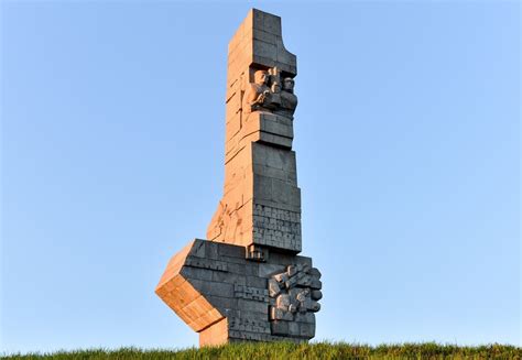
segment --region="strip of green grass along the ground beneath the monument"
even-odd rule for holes
[[[316,343],[235,343],[215,348],[182,350],[142,350],[122,348],[118,350],[89,349],[57,351],[53,353],[9,354],[2,359],[522,359],[522,348],[505,345],[460,347],[435,342],[367,345],[346,342]]]

